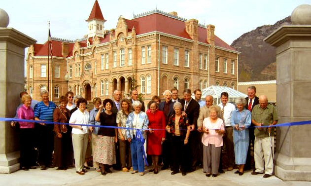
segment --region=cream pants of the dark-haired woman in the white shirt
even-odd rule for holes
[[[76,171],[82,171],[89,134],[72,134],[73,156]]]

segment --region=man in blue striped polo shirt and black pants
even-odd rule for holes
[[[35,105],[35,120],[36,121],[51,121],[53,122],[53,112],[56,108],[54,102],[49,101],[49,92],[43,90],[40,93],[41,100]],[[40,169],[45,170],[46,166],[53,167],[52,153],[54,150],[54,132],[53,124],[39,123],[38,125],[38,162]]]

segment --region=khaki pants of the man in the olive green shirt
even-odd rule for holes
[[[274,153],[274,137],[271,136],[272,149]],[[273,159],[270,146],[270,137],[257,138],[255,136],[254,158],[256,172],[273,174]]]

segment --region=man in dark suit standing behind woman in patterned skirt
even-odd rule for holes
[[[120,100],[121,100],[121,92],[119,90],[115,90],[113,92],[112,113],[117,113],[121,110]],[[119,143],[115,144],[115,159],[116,159],[116,164],[112,165],[113,169],[121,170]]]

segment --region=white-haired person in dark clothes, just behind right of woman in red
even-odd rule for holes
[[[166,90],[163,93],[165,101],[159,104],[159,110],[164,112],[166,117],[166,122],[168,123],[170,116],[174,112],[172,102],[172,92],[170,90]],[[171,164],[171,134],[166,131],[166,139],[162,144],[162,159],[163,159],[163,167],[161,170],[165,170],[169,168]]]

